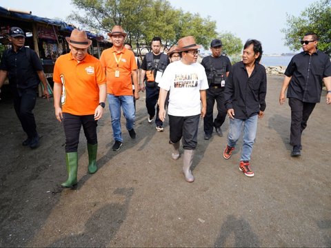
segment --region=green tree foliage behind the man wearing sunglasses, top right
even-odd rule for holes
[[[307,32],[319,35],[319,50],[331,55],[331,0],[321,0],[312,3],[301,12],[299,17],[287,14],[287,28],[281,32],[285,34],[285,45],[291,50],[299,50],[299,41]]]

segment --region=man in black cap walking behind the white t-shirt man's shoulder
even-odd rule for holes
[[[224,105],[224,86],[225,80],[231,70],[231,62],[227,56],[222,55],[222,42],[219,39],[214,39],[210,43],[212,55],[202,59],[201,65],[205,68],[207,74],[209,89],[207,90],[207,113],[203,118],[203,131],[205,132],[205,140],[209,140],[212,136],[212,130],[215,130],[219,136],[223,136],[221,125],[225,121],[226,109]],[[217,102],[217,117],[213,121],[213,109],[215,100]]]

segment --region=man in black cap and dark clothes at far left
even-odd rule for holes
[[[43,66],[34,50],[24,46],[26,34],[21,28],[12,27],[9,41],[12,48],[3,52],[0,64],[0,88],[8,76],[10,89],[14,96],[14,109],[28,138],[22,145],[32,149],[39,145],[36,121],[32,110],[36,105],[37,87],[43,83],[43,94],[49,98],[47,79],[43,73]]]

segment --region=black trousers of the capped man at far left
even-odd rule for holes
[[[26,132],[28,138],[37,136],[37,125],[32,113],[37,101],[36,89],[33,87],[26,90],[13,90],[12,93],[14,94],[14,110],[23,131]]]

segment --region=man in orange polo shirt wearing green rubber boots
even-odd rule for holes
[[[100,61],[88,54],[92,41],[85,31],[72,30],[66,37],[70,53],[54,65],[54,108],[57,120],[66,134],[68,179],[62,187],[77,184],[79,132],[83,125],[88,141],[88,172],[97,172],[97,121],[103,115],[106,101],[106,75]]]

